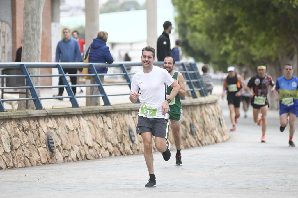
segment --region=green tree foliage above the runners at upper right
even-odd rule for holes
[[[184,51],[197,61],[226,67],[284,64],[281,57],[297,56],[297,0],[172,2]]]

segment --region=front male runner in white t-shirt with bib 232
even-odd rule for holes
[[[153,65],[154,48],[150,46],[143,48],[141,61],[143,69],[132,78],[129,100],[136,103],[138,97],[140,99],[139,120],[136,128],[144,142],[144,157],[149,172],[149,182],[145,187],[154,187],[156,179],[153,169],[152,135],[155,136],[156,149],[162,153],[164,160],[168,161],[171,152],[167,141],[169,137],[167,111],[169,103],[177,95],[180,86],[167,70]],[[166,99],[167,86],[173,89]]]

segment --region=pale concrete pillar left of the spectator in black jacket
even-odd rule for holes
[[[156,50],[157,42],[157,4],[156,0],[146,1],[147,10],[147,45]]]

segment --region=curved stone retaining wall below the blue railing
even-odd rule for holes
[[[217,101],[215,95],[182,101],[182,149],[229,139]],[[139,104],[122,104],[2,112],[0,169],[142,154],[142,138],[136,134],[138,109]],[[195,135],[190,131],[190,122],[195,126]],[[130,139],[129,128],[134,131],[135,142]],[[47,136],[54,140],[53,153],[48,148]],[[171,150],[176,149],[171,132],[169,139],[173,143]]]

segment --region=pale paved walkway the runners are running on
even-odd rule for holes
[[[288,127],[280,133],[270,111],[260,143],[251,111],[228,141],[182,150],[183,166],[175,166],[175,151],[168,162],[154,153],[155,188],[144,187],[144,157],[134,155],[0,170],[0,197],[298,197],[298,147],[288,147]]]

